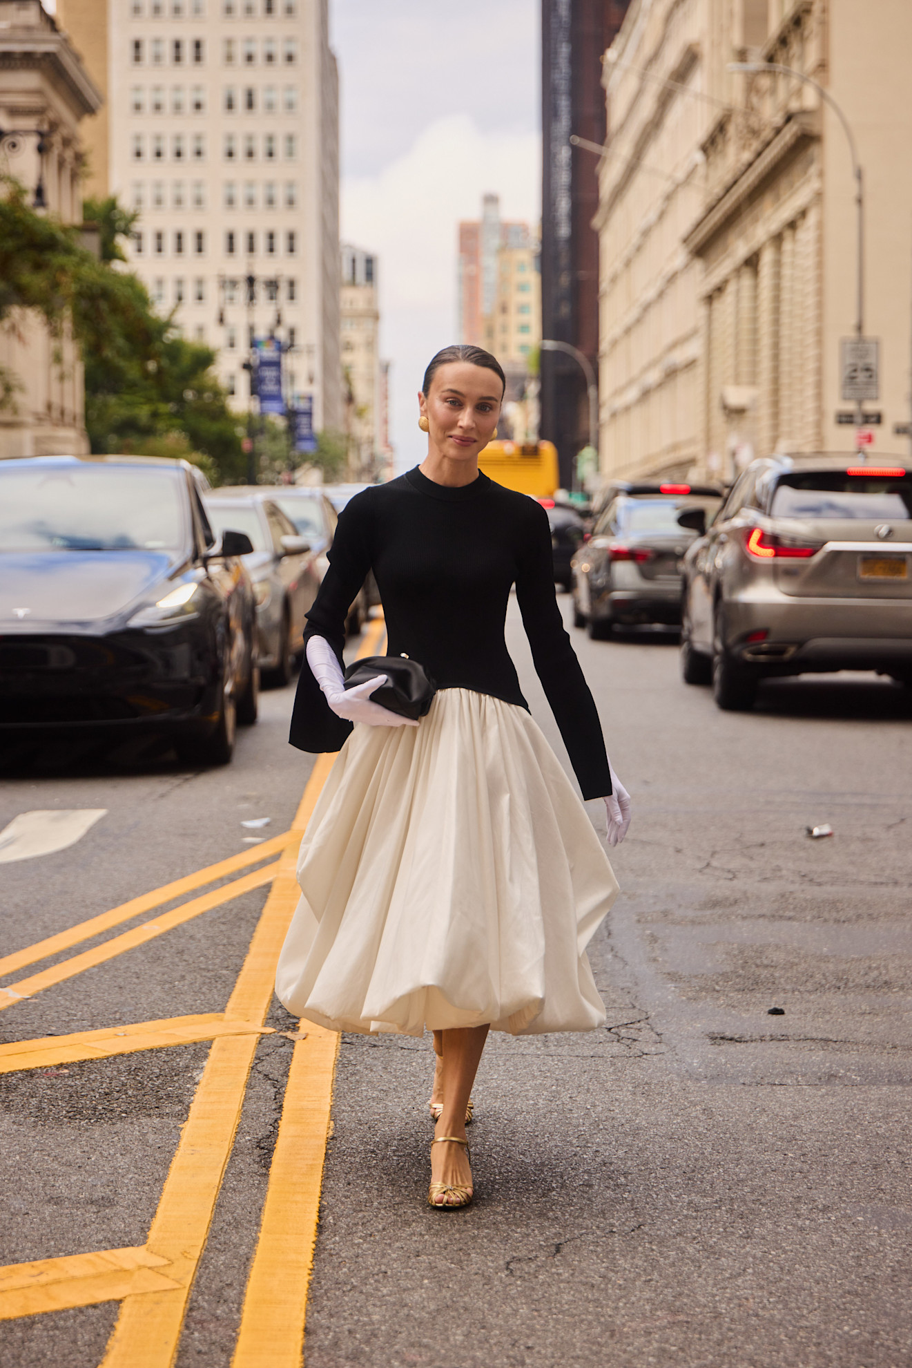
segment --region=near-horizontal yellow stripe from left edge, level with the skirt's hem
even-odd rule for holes
[[[243,1021],[227,1022],[223,1012],[204,1012],[198,1016],[168,1016],[155,1022],[133,1022],[129,1026],[105,1026],[103,1030],[81,1030],[72,1036],[44,1036],[40,1040],[0,1045],[0,1074],[72,1064],[81,1059],[108,1059],[111,1055],[131,1055],[139,1049],[160,1049],[165,1045],[189,1045],[198,1040],[243,1036],[247,1031],[265,1036],[272,1034],[273,1027]]]

